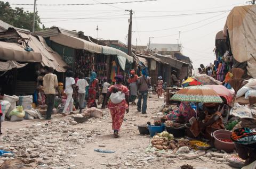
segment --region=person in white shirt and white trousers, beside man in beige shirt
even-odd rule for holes
[[[67,101],[63,109],[63,115],[66,115],[68,106],[70,106],[70,112],[73,111],[73,103],[74,103],[74,99],[72,97],[73,91],[75,93],[75,97],[77,96],[76,90],[75,90],[76,82],[73,76],[74,76],[74,73],[72,71],[67,71],[66,84],[65,84],[65,93],[67,94]]]

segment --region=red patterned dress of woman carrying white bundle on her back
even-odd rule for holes
[[[125,95],[129,95],[129,89],[124,85],[112,85],[108,89],[108,91],[112,92],[114,88],[122,91]],[[121,103],[114,104],[111,100],[108,103],[108,108],[112,117],[112,129],[113,130],[120,130],[121,125],[124,120],[124,114],[126,109],[128,108],[128,104],[126,100],[123,100]]]

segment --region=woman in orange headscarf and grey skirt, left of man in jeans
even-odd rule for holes
[[[131,99],[132,104],[136,105],[135,99],[137,98],[137,80],[139,79],[138,75],[135,74],[135,70],[130,70],[130,77],[128,79],[128,83],[130,83],[130,92],[131,92]]]

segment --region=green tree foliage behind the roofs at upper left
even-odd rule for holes
[[[33,12],[24,11],[24,9],[20,7],[15,7],[15,9],[12,9],[9,2],[4,3],[3,1],[0,1],[0,20],[9,23],[14,27],[29,29],[32,31],[33,19]],[[36,12],[35,30],[41,30],[39,26],[40,23],[40,18]]]

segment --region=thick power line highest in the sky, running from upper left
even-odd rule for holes
[[[37,4],[37,5],[38,6],[106,5],[106,4],[127,4],[127,3],[138,3],[138,2],[150,2],[150,1],[157,1],[157,0],[108,2],[108,3],[87,3],[87,4]],[[34,5],[34,4],[10,4],[10,5]]]

